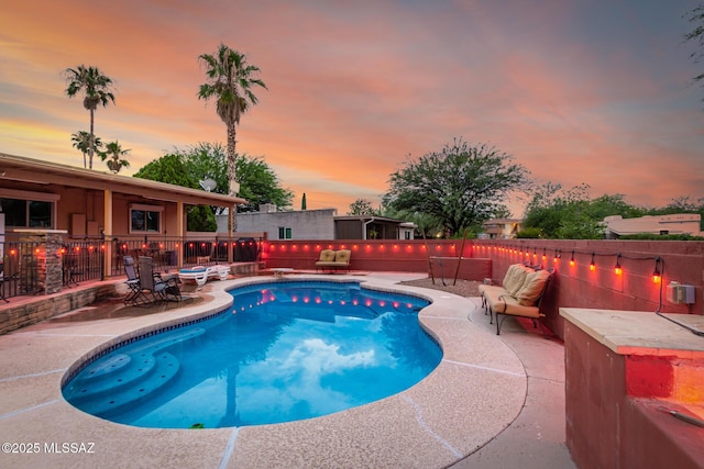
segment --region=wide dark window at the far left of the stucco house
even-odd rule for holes
[[[0,196],[0,212],[4,224],[15,228],[54,228],[56,194],[4,190]]]

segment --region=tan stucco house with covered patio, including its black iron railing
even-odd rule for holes
[[[81,271],[98,278],[122,275],[125,254],[150,255],[160,265],[173,267],[204,260],[219,243],[220,254],[227,252],[234,235],[188,233],[188,206],[231,209],[244,202],[237,197],[0,153],[0,271],[8,283],[9,277],[37,264],[34,250],[47,255],[40,247],[50,246],[48,250],[53,243],[61,245],[59,255],[78,257],[84,263]],[[29,252],[29,247],[10,248],[10,243],[37,243],[38,247]],[[26,289],[30,275],[25,277],[22,286]]]

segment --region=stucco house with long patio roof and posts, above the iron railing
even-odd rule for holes
[[[119,249],[128,244],[146,252],[169,243],[170,253],[178,246],[182,254],[177,255],[183,255],[179,244],[189,236],[189,205],[233,208],[244,202],[215,192],[0,153],[4,242],[28,233],[58,234],[64,243],[105,241],[101,268],[107,275],[121,261],[124,253]],[[211,235],[215,239],[217,234]],[[221,236],[229,235],[224,232]],[[180,265],[183,259],[175,260]]]

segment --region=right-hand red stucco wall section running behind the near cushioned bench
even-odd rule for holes
[[[616,275],[619,253],[623,273]],[[590,269],[592,254],[594,270]],[[704,242],[474,239],[472,256],[492,260],[492,278],[499,284],[512,264],[528,261],[554,268],[541,311],[547,314],[546,325],[562,338],[564,321],[560,308],[654,312],[662,299],[661,312],[704,313]],[[572,256],[574,266],[570,266]],[[662,259],[658,267],[662,273],[660,283],[652,281],[656,257]],[[695,303],[669,302],[667,286],[671,281],[693,286]]]

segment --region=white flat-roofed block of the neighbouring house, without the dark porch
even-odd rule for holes
[[[237,214],[238,232],[264,232],[267,239],[332,239],[336,209],[278,211],[263,203],[258,212]],[[218,215],[218,231],[227,227],[227,215]]]

